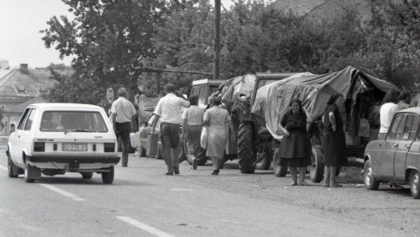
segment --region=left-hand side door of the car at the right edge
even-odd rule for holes
[[[400,137],[404,131],[405,115],[395,115],[384,143],[381,144],[381,155],[378,159],[378,175],[381,178],[393,178],[394,176],[394,157],[398,148]]]

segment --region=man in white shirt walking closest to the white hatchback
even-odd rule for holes
[[[118,99],[112,102],[111,119],[113,129],[116,132],[117,139],[121,139],[121,147],[123,148],[123,157],[121,166],[127,167],[128,149],[130,147],[130,131],[132,117],[136,115],[136,109],[133,104],[127,100],[127,89],[121,87],[118,89]]]

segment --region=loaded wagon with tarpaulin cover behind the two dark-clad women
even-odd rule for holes
[[[279,121],[288,111],[290,100],[300,99],[312,122],[309,131],[312,145],[309,173],[313,182],[321,182],[324,169],[321,117],[330,96],[339,93],[346,99],[346,110],[340,111],[348,151],[348,163],[344,165],[363,166],[365,146],[375,136],[372,136],[375,127],[370,126],[369,115],[373,106],[379,106],[388,89],[393,88],[397,89],[395,85],[352,66],[323,75],[297,73],[258,89],[251,113],[258,124],[263,124],[276,140],[281,141],[283,134],[277,130]],[[284,167],[279,167],[278,159],[274,151],[274,169],[284,171]],[[283,172],[283,175],[286,173]]]

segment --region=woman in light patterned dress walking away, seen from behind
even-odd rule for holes
[[[221,107],[221,98],[212,99],[213,107],[204,113],[203,124],[207,127],[207,157],[211,158],[214,171],[211,175],[218,175],[221,164],[225,162],[224,151],[228,142],[228,128],[230,134],[235,134],[228,110]]]

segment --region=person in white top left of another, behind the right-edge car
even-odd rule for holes
[[[389,126],[391,125],[393,115],[397,110],[398,96],[400,92],[397,89],[389,89],[386,92],[384,101],[379,111],[381,117],[381,129],[379,129],[379,140],[384,140],[386,133],[388,133]]]

